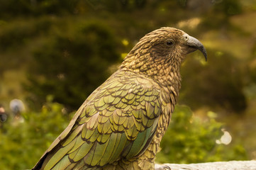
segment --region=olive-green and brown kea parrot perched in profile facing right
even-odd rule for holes
[[[84,101],[38,169],[155,169],[181,88],[182,62],[204,45],[183,30],[146,34],[118,70]]]

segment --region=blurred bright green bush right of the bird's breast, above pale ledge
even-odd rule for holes
[[[176,106],[156,161],[189,164],[247,159],[242,145],[216,143],[223,135],[223,124],[216,121],[216,113],[208,113],[207,118],[200,118],[188,106]]]

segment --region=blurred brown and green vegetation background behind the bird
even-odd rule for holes
[[[256,159],[255,0],[0,0],[0,167],[29,169],[146,33],[208,52],[182,66],[158,163]]]

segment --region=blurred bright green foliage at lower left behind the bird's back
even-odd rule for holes
[[[72,115],[72,114],[70,114]],[[1,169],[30,169],[67,127],[70,115],[48,96],[40,112],[28,111],[22,118],[9,118],[0,128]]]

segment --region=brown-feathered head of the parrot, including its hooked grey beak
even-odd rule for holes
[[[200,50],[207,60],[204,45],[182,30],[163,27],[146,34],[133,47],[121,68],[154,74],[163,69],[179,69],[190,52]]]

